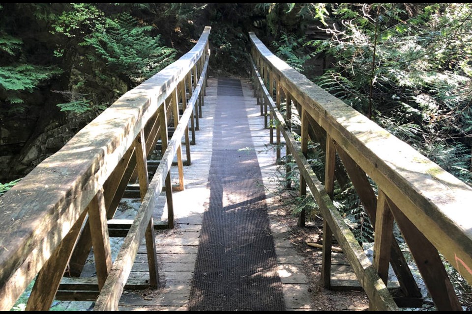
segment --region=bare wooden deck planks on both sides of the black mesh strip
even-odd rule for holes
[[[215,139],[213,133],[216,122],[215,111],[217,104],[220,104],[218,96],[221,96],[221,89],[220,94],[217,95],[218,79],[209,78],[208,85],[205,105],[203,107],[203,117],[199,120],[200,130],[196,132],[196,145],[190,147],[192,164],[184,166],[185,190],[173,193],[177,227],[174,230],[156,232],[159,276],[161,287],[163,288],[157,290],[126,290],[119,303],[119,309],[122,311],[185,311],[189,307],[190,309],[199,309],[198,306],[196,307],[196,304],[199,304],[199,302],[195,301],[195,291],[191,291],[192,279],[199,253],[204,213],[208,211],[211,188],[214,188],[214,185],[211,187],[208,184],[208,177],[210,165],[212,164],[213,141]],[[259,183],[264,184],[266,191],[267,213],[276,253],[277,265],[275,267],[283,291],[282,304],[284,304],[287,310],[311,310],[312,300],[309,287],[306,277],[301,270],[303,258],[297,254],[295,246],[288,240],[288,227],[279,224],[276,220],[270,219],[279,206],[279,204],[275,204],[275,194],[271,192],[277,187],[277,184],[274,182],[277,168],[275,164],[275,151],[266,147],[268,144],[268,131],[264,129],[264,119],[260,116],[260,108],[255,105],[256,100],[253,97],[249,81],[242,81],[242,92],[243,97],[241,99],[247,113],[249,135],[254,147],[244,146],[241,149],[251,151],[254,149],[254,151],[258,152],[256,156],[262,174],[262,182]],[[231,120],[232,116],[226,115],[225,119]],[[218,123],[221,125],[222,121],[218,121]],[[225,123],[223,122],[223,124]],[[226,131],[231,132],[231,129]],[[182,149],[185,149],[185,146],[182,146]],[[183,152],[183,156],[185,156],[185,152]],[[171,173],[173,174],[173,185],[177,184],[177,167],[173,167]],[[254,184],[257,184],[256,179]],[[226,195],[226,197],[231,196]],[[160,202],[165,201],[165,192],[163,192],[161,193]],[[139,204],[139,200],[133,201],[128,199],[126,202],[128,204],[133,202]],[[126,211],[122,215],[126,215]],[[154,212],[154,219],[155,221],[166,220],[166,215],[167,209],[164,207],[162,212]],[[334,262],[334,260],[339,261]],[[335,264],[338,264],[338,266]],[[319,265],[321,267],[321,250]],[[83,275],[94,272],[93,265],[89,265],[86,268],[89,268],[90,272],[84,271]],[[355,283],[355,276],[353,276],[354,274],[350,270],[348,263],[333,255],[333,284],[336,279],[340,278],[353,284],[353,282]],[[146,246],[143,241],[128,282],[133,280],[142,282],[145,278],[148,278],[148,263]],[[189,298],[191,299],[190,305]],[[216,310],[217,308],[214,309]]]

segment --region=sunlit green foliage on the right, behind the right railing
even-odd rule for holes
[[[304,47],[293,40],[274,45],[278,55],[472,185],[471,4],[341,3],[324,8],[318,28],[329,38],[309,40]],[[307,55],[325,58],[321,76],[307,71]],[[312,148],[309,158],[323,181],[323,149]],[[312,199],[300,201],[296,209],[316,210]],[[352,184],[336,184],[334,203],[359,242],[373,241],[373,227]],[[395,236],[404,245],[398,230]],[[471,286],[444,263],[461,302],[470,309]]]

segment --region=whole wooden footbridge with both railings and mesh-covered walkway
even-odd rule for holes
[[[264,191],[254,183],[264,176],[250,149],[256,140],[248,117],[256,110],[251,117],[265,121],[263,142],[276,144],[278,160],[286,155],[296,161],[300,194],[309,190],[323,213],[325,288],[335,288],[334,235],[371,309],[421,305],[393,237],[395,222],[436,308],[462,310],[441,255],[472,283],[472,189],[296,72],[254,33],[249,34],[254,94],[248,96],[238,80],[208,80],[209,34],[207,27],[190,52],[124,94],[0,198],[0,309],[9,310],[34,280],[27,310],[49,310],[55,299],[91,300],[94,310],[118,310],[125,287],[157,288],[159,264],[187,258],[196,259],[188,263],[192,269],[172,276],[191,284],[182,293],[190,310],[288,308],[283,276],[274,271],[283,260],[276,232],[270,231]],[[212,82],[217,91],[206,95]],[[209,103],[213,110],[206,116]],[[301,142],[291,131],[296,114]],[[207,155],[192,148],[196,131],[208,126],[199,121],[204,117],[212,128],[205,135]],[[310,140],[325,148],[324,184],[306,159]],[[203,158],[207,170],[192,174],[192,158]],[[202,215],[177,220],[193,251],[178,255],[173,246],[158,259],[156,231],[174,228],[174,210],[188,207],[188,213],[199,202],[191,193],[186,202],[173,199],[189,178],[209,191]],[[373,262],[331,200],[335,180],[352,181],[375,224]],[[123,195],[141,199],[133,219],[117,219]],[[305,224],[304,213],[299,223]],[[124,238],[116,257],[110,237]],[[96,275],[85,278],[91,249]],[[140,276],[134,274],[137,262],[146,265],[138,267]],[[395,290],[387,288],[389,265],[399,285]]]

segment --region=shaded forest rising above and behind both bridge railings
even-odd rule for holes
[[[1,3],[0,185],[187,52],[249,76],[248,32],[464,182],[471,173],[469,3]]]

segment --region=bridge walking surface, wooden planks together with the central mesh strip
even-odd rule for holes
[[[174,193],[177,228],[156,233],[162,288],[126,291],[120,310],[311,310],[289,229],[267,217],[277,165],[249,82],[208,82],[185,190]],[[130,280],[147,267],[143,242]]]

